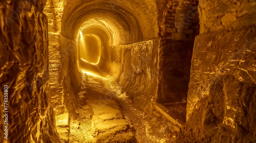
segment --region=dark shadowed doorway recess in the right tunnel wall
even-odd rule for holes
[[[193,47],[193,40],[161,40],[158,102],[186,103]]]

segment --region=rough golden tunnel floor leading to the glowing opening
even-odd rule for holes
[[[102,74],[97,66],[90,69],[82,69],[80,108],[70,118],[69,142],[174,141],[175,133],[169,128],[173,125],[168,125],[172,123],[144,114],[115,78]]]

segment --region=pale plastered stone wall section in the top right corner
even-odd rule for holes
[[[200,34],[255,27],[255,1],[206,1],[199,6]]]

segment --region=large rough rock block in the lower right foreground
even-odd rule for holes
[[[255,140],[255,32],[253,28],[196,38],[184,129],[188,140]]]

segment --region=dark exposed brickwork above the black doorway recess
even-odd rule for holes
[[[195,39],[199,35],[198,1],[168,0],[159,17],[162,37],[173,40]]]

